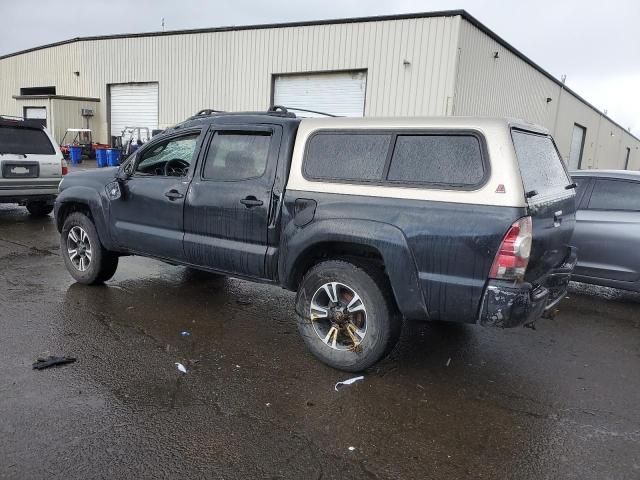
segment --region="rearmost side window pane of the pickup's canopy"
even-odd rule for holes
[[[480,142],[472,135],[398,135],[388,180],[469,186],[484,177]]]

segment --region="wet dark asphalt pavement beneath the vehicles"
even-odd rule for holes
[[[0,206],[0,478],[640,478],[640,295],[410,324],[339,392],[293,298],[137,257],[74,284],[53,218]]]

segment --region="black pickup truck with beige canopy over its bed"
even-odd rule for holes
[[[280,285],[313,354],[359,371],[403,319],[513,327],[554,309],[574,188],[524,122],[205,111],[119,168],[66,176],[55,215],[78,282],[143,255]]]

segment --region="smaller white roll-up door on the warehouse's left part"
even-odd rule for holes
[[[120,136],[125,127],[158,128],[158,84],[111,85],[111,135]]]

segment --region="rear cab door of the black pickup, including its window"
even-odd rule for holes
[[[213,125],[185,203],[187,261],[265,278],[282,126]]]

